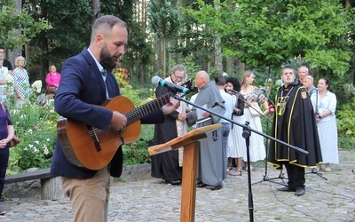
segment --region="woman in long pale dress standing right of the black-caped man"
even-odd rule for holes
[[[330,163],[339,164],[338,132],[335,119],[336,96],[329,91],[327,78],[318,81],[318,92],[313,93],[311,100],[316,115],[320,149],[325,171],[330,172]],[[317,166],[321,170],[321,166]]]

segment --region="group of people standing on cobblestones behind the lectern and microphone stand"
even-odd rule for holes
[[[176,76],[179,75],[175,74],[174,68],[166,81],[177,84],[184,82],[182,76],[186,75],[185,68],[183,70],[180,82],[177,81]],[[210,112],[202,112],[198,107],[189,105],[183,112],[180,110],[175,113],[173,124],[169,128],[169,131],[175,132],[170,139],[177,137],[176,121],[187,123],[193,128],[222,123],[221,129],[211,132],[207,139],[200,142],[197,187],[210,190],[222,188],[222,181],[226,175],[241,176],[242,170],[252,170],[251,165],[250,169],[246,166],[249,159],[251,163],[266,161],[277,170],[285,167],[288,172],[288,186],[280,187],[278,190],[304,195],[306,168],[329,172],[330,163],[339,164],[335,94],[328,91],[330,84],[327,78],[320,78],[316,88],[307,67],[300,67],[298,75],[297,80],[294,67],[281,69],[280,79],[283,85],[276,94],[275,107],[274,109],[272,107],[273,110],[270,109],[272,111],[269,110],[270,106],[264,91],[254,84],[256,75],[251,70],[244,72],[241,83],[236,77],[225,78],[225,76],[217,76],[214,82],[210,81],[209,74],[203,70],[194,76],[198,93],[194,94],[190,101],[207,108]],[[156,90],[162,90],[161,88],[162,86],[158,86]],[[269,112],[274,112],[272,137],[284,141],[291,147],[275,141],[271,141],[268,145],[261,135],[252,133],[249,137],[249,156],[247,156],[245,139],[241,136],[243,129],[233,122],[241,125],[248,123],[251,129],[263,132],[261,116],[268,115]],[[213,115],[222,113],[224,118]],[[180,119],[179,116],[184,117]],[[168,123],[156,124],[155,130],[166,127],[165,124]],[[169,131],[160,130],[159,134],[154,134],[154,141],[162,139],[169,134]],[[163,142],[167,140],[160,141]],[[300,154],[292,146],[302,147],[308,155]],[[174,158],[169,157],[172,153],[175,153]],[[172,185],[179,185],[182,180],[181,173],[175,178],[162,176],[162,172],[165,175],[174,174],[176,169],[181,172],[182,165],[177,161],[179,160],[177,151],[167,152],[166,155],[169,157],[163,160],[166,162],[164,163],[166,167],[159,164],[161,174],[157,176],[157,170],[153,168],[152,175],[163,178],[165,182]],[[157,157],[152,157],[153,162]],[[324,163],[325,167],[322,169]]]

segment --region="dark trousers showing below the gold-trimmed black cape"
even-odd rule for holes
[[[286,170],[288,170],[288,187],[291,189],[296,187],[304,187],[304,167],[289,163],[284,163],[284,165]]]

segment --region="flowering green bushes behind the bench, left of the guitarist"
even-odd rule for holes
[[[58,114],[54,107],[40,107],[27,103],[20,109],[7,105],[12,123],[20,144],[10,150],[10,171],[23,171],[28,168],[47,168],[56,141]]]

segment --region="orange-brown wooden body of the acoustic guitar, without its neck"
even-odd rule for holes
[[[107,100],[103,106],[113,111],[119,111],[122,114],[134,108],[130,99],[122,96]],[[130,123],[119,134],[110,130],[98,131],[96,138],[99,140],[99,147],[101,148],[98,151],[95,139],[92,138],[91,131],[89,131],[85,123],[66,118],[59,119],[57,123],[60,145],[68,161],[76,166],[90,170],[104,168],[111,162],[118,147],[123,143],[130,144],[138,139],[140,130],[140,121],[137,120],[134,123]]]

